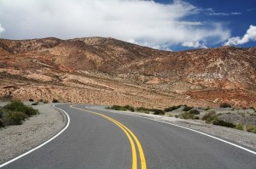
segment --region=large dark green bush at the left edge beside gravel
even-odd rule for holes
[[[0,127],[21,125],[30,116],[38,114],[38,110],[26,106],[20,101],[13,100],[0,108]]]

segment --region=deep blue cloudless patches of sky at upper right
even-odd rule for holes
[[[155,2],[167,4],[172,1],[156,0]],[[189,16],[187,20],[222,22],[230,30],[231,37],[242,37],[246,34],[249,25],[256,25],[255,0],[186,0],[185,2],[206,10],[194,16]],[[218,43],[211,47],[219,47],[221,45],[223,43]],[[237,46],[244,48],[254,47],[256,42],[250,41]]]

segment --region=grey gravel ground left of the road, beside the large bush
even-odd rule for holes
[[[42,144],[64,127],[63,115],[52,104],[38,104],[33,108],[38,109],[40,115],[30,117],[19,126],[0,128],[0,163]]]

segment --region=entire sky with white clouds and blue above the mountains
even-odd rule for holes
[[[113,37],[150,48],[253,47],[255,0],[1,0],[0,38]]]

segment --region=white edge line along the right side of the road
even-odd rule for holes
[[[112,110],[111,110],[111,111],[108,111],[108,112],[118,113],[118,114],[122,114],[122,115],[131,115],[131,113],[130,113],[130,114],[127,114],[127,113],[122,113],[122,112],[119,112],[119,111],[114,112],[114,111],[112,111]],[[148,119],[148,120],[151,120],[151,121],[159,121],[159,120],[151,119],[151,118],[144,117],[144,116],[140,116],[140,115],[131,115],[131,116],[137,116],[137,117],[141,117],[141,118]],[[197,131],[197,130],[194,130],[194,129],[191,129],[191,128],[188,128],[188,127],[182,127],[182,126],[173,124],[173,123],[171,123],[171,122],[166,122],[166,121],[159,121],[159,122],[166,123],[166,124],[169,124],[169,125],[172,125],[172,126],[175,126],[175,127],[184,128],[184,129],[190,130],[190,131],[192,131],[192,132],[200,133],[200,134],[205,135],[205,136],[207,136],[207,137],[217,139],[218,141],[224,142],[225,144],[233,145],[233,146],[235,146],[236,148],[246,150],[247,152],[252,153],[253,155],[256,155],[256,152],[253,151],[253,150],[251,150],[251,149],[244,148],[244,147],[242,147],[242,146],[240,146],[240,145],[237,145],[237,144],[232,144],[232,143],[230,143],[230,142],[228,142],[228,141],[226,141],[226,140],[224,140],[224,139],[216,138],[216,137],[214,137],[214,136],[212,136],[212,135],[209,135],[209,134],[207,134],[207,133],[205,133],[205,132],[199,132],[199,131]]]

